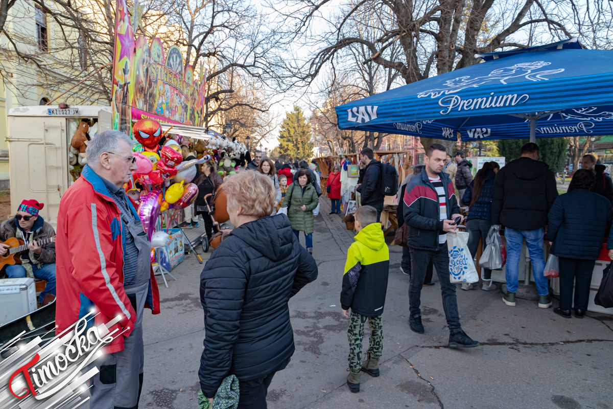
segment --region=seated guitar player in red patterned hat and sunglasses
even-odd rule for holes
[[[38,213],[44,204],[35,200],[21,202],[15,218],[0,224],[0,241],[6,242],[10,237],[23,240],[26,250],[15,254],[21,264],[7,265],[4,272],[7,277],[31,277],[47,280],[45,291],[40,293],[39,303],[47,305],[55,299],[55,242],[40,245],[40,240],[50,241],[55,237],[55,230],[43,220]],[[10,246],[0,243],[0,256],[9,253]]]

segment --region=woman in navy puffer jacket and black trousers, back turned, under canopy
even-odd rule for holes
[[[549,253],[558,256],[560,264],[560,305],[554,312],[565,318],[571,317],[573,304],[576,318],[585,315],[594,264],[613,218],[609,199],[590,192],[595,183],[592,170],[577,170],[568,193],[555,199],[547,216],[547,240],[552,242]],[[609,243],[611,237],[609,234]]]

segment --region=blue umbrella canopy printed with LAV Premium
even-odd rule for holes
[[[613,51],[571,39],[477,56],[336,107],[338,128],[465,141],[613,134]]]

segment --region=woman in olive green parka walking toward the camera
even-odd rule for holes
[[[281,207],[287,207],[287,217],[296,237],[300,239],[300,232],[304,232],[307,251],[311,254],[313,254],[313,210],[318,203],[319,198],[311,183],[310,170],[300,169],[298,180],[287,188]]]

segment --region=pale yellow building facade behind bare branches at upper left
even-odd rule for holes
[[[47,7],[55,10],[53,2]],[[59,12],[59,10],[57,10]],[[85,78],[91,59],[85,59],[76,30],[60,28],[53,15],[30,0],[11,7],[0,34],[0,189],[8,187],[9,123],[7,113],[15,107],[59,102],[79,105],[109,105],[104,90],[96,83],[74,85]],[[66,92],[67,91],[67,92]],[[62,95],[64,92],[66,94]]]

